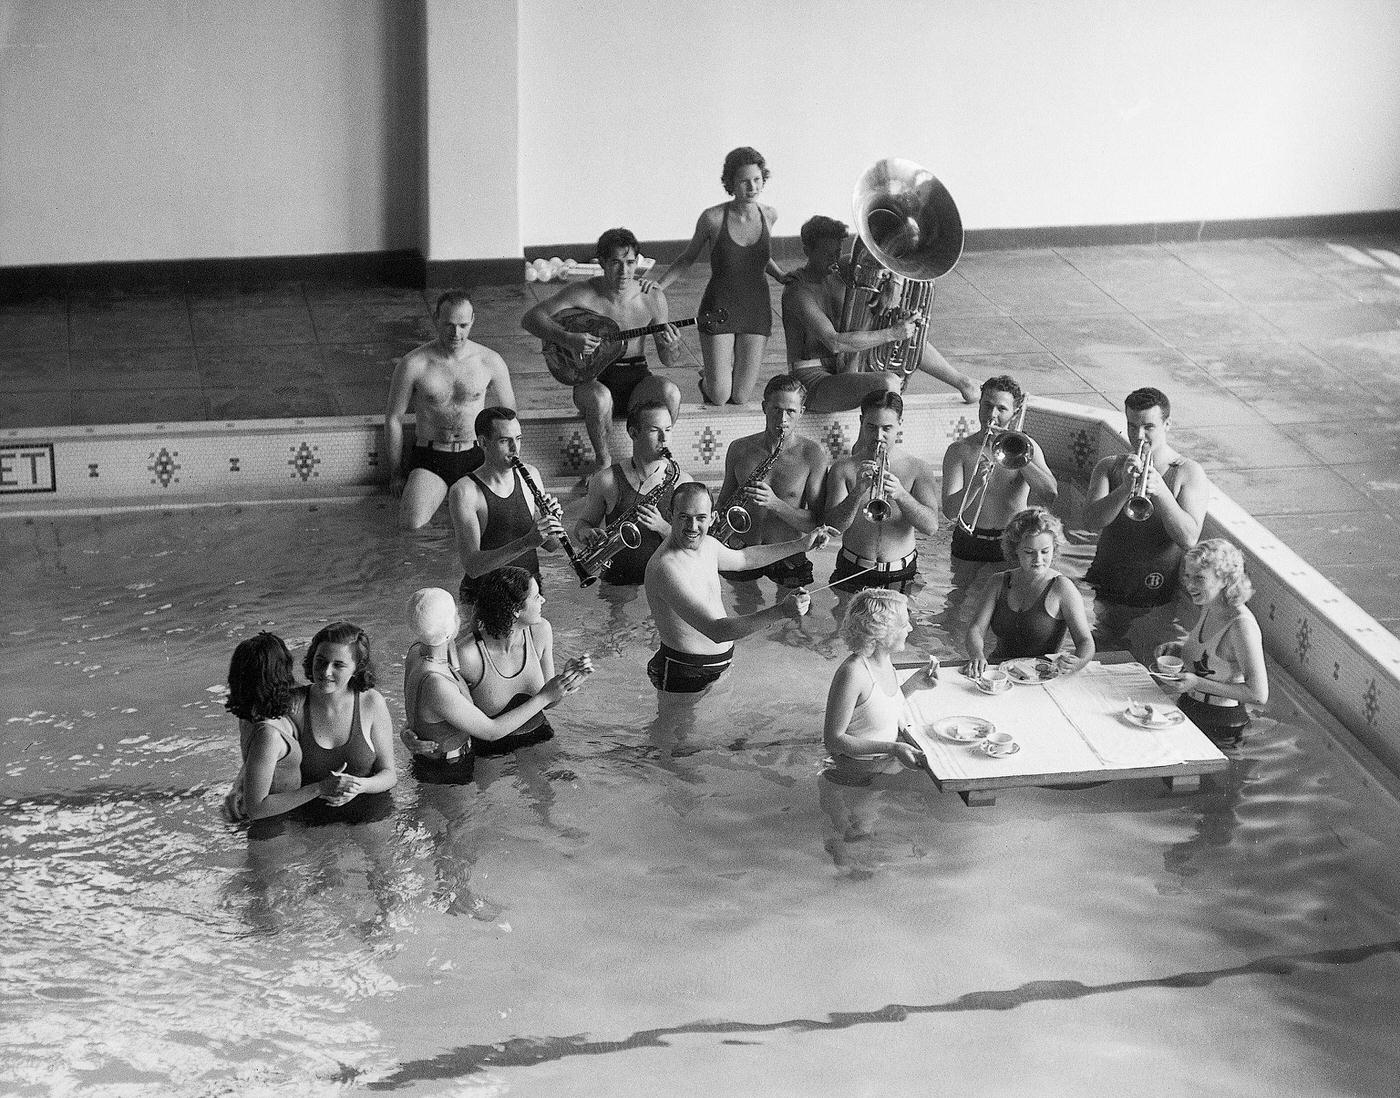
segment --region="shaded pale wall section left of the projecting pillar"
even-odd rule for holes
[[[0,265],[417,246],[403,0],[0,0]]]

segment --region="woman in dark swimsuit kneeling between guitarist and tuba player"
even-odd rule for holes
[[[700,396],[708,405],[748,403],[773,331],[766,276],[780,283],[794,277],[773,262],[771,230],[778,216],[759,202],[767,181],[769,165],[759,150],[731,150],[720,182],[732,197],[700,214],[690,244],[655,282],[665,290],[708,248],[710,283],[700,301]],[[707,314],[722,319],[707,322]]]

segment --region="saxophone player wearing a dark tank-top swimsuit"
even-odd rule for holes
[[[626,462],[609,465],[588,483],[588,499],[574,527],[574,536],[587,553],[606,541],[608,529],[629,515],[641,532],[641,545],[623,549],[602,574],[603,583],[640,584],[647,574],[647,562],[661,548],[671,532],[671,492],[690,478],[664,457],[671,438],[671,409],[661,401],[633,405],[627,413],[627,434],[631,437],[631,457]],[[657,503],[640,503],[673,478],[668,492]],[[636,514],[631,514],[636,511]]]

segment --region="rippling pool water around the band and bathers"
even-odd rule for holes
[[[1400,815],[1277,668],[1198,795],[967,808],[909,773],[847,840],[816,777],[829,592],[658,713],[644,598],[552,559],[556,650],[598,667],[552,746],[468,787],[400,751],[389,819],[251,840],[218,811],[234,644],[357,620],[402,717],[447,532],[368,500],[0,545],[6,1094],[1394,1092]],[[951,655],[966,577],[923,562],[910,647]]]

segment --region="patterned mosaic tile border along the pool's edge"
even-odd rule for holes
[[[582,423],[552,413],[521,420],[525,452],[546,485],[559,492],[577,483],[592,462]],[[671,448],[692,476],[718,483],[729,444],[762,429],[757,412],[692,410]],[[937,468],[948,444],[976,429],[974,409],[956,398],[916,395],[906,402],[900,441]],[[840,457],[855,440],[857,415],[809,416],[801,430]],[[1082,496],[1100,455],[1127,451],[1107,409],[1036,398],[1026,430],[1067,497]],[[615,454],[630,452],[622,424],[610,443]],[[363,496],[382,480],[379,416],[0,431],[0,518]],[[1400,639],[1219,490],[1207,535],[1229,538],[1245,553],[1256,588],[1250,605],[1270,655],[1400,774]]]

